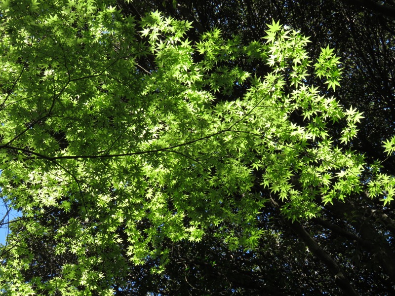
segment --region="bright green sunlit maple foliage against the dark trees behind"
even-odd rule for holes
[[[137,22],[93,0],[2,1],[1,15],[0,186],[22,215],[0,249],[1,293],[112,295],[127,262],[159,258],[163,271],[164,241],[215,229],[230,249],[254,249],[268,202],[300,221],[364,190],[363,157],[338,146],[362,114],[326,96],[339,59],[329,47],[311,59],[298,31],[273,21],[248,44],[219,29],[192,42],[190,22]],[[392,199],[389,179],[377,172],[372,197]],[[27,282],[42,263],[34,239],[59,262]]]

